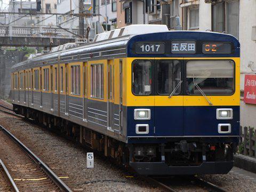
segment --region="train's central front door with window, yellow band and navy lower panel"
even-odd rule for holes
[[[155,136],[183,135],[182,61],[155,59]]]

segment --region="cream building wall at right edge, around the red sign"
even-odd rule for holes
[[[239,3],[239,42],[241,43],[241,90],[244,90],[244,75],[256,73],[256,42],[252,41],[252,26],[256,26],[256,1]],[[252,63],[251,67],[248,64]],[[256,105],[241,100],[241,125],[256,129]]]

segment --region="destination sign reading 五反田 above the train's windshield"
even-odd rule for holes
[[[195,54],[196,42],[195,41],[172,41],[171,51],[173,54]]]

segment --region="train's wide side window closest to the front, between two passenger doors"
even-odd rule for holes
[[[91,97],[104,98],[104,68],[102,64],[91,65]]]

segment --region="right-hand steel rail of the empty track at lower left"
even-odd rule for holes
[[[6,130],[0,125],[2,131],[8,135],[15,143],[19,145],[26,153],[28,153],[38,164],[43,167],[44,171],[51,176],[51,178],[58,183],[58,185],[65,191],[71,192],[71,189],[41,160],[39,159],[30,149],[28,149],[19,139],[17,139],[12,133]]]

